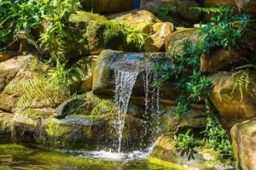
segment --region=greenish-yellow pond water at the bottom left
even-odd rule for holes
[[[104,155],[99,152],[98,155]],[[105,154],[106,155],[106,154]],[[100,159],[72,152],[30,149],[18,144],[0,144],[0,169],[14,170],[162,170],[166,167],[141,159]]]

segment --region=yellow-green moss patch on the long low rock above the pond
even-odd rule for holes
[[[48,123],[46,133],[52,137],[61,137],[72,132],[72,127],[67,124],[61,124],[58,120],[52,120]]]

